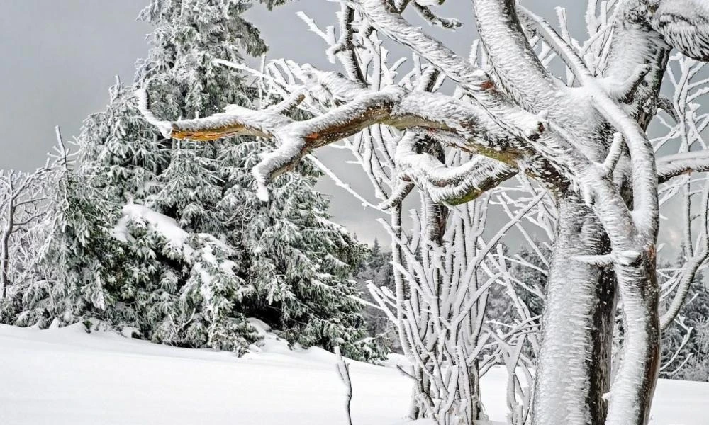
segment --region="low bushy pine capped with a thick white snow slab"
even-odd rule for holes
[[[232,249],[210,234],[185,232],[172,218],[128,204],[114,230],[130,246],[121,294],[123,323],[162,344],[243,353],[258,341],[235,310],[247,286],[229,260]]]

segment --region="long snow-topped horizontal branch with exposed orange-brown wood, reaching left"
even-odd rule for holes
[[[335,103],[334,108],[309,120],[294,121],[279,113],[279,108],[254,111],[229,106],[225,112],[191,120],[159,120],[150,111],[147,92],[136,92],[140,111],[165,137],[191,140],[216,140],[235,135],[274,138],[279,147],[264,154],[253,172],[259,183],[259,198],[268,198],[266,184],[274,176],[291,169],[313,149],[344,139],[374,124],[394,128],[437,129],[462,137],[470,152],[487,154],[509,164],[521,159],[524,146],[499,128],[489,115],[470,103],[442,94],[408,91],[387,86],[381,91],[364,89],[335,73],[301,69],[299,76],[308,87],[320,87],[319,101]],[[313,81],[315,80],[315,81]],[[315,84],[315,83],[318,84]],[[310,92],[313,96],[312,91]],[[286,102],[289,105],[292,102]],[[510,111],[514,120],[517,111]],[[514,145],[517,145],[516,147]]]

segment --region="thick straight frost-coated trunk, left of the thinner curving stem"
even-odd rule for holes
[[[608,251],[603,227],[574,193],[558,201],[559,224],[542,315],[535,425],[602,425],[610,386],[613,273],[577,255]]]

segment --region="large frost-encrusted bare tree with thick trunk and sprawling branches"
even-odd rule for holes
[[[260,111],[230,106],[206,118],[165,122],[150,112],[145,90],[138,93],[141,110],[165,137],[276,140],[277,149],[254,169],[264,200],[268,181],[313,149],[379,130],[397,140],[391,160],[400,184],[387,207],[414,185],[431,205],[455,205],[517,174],[537,182],[554,199],[556,222],[533,421],[646,424],[659,370],[658,184],[709,169],[709,156],[691,149],[658,158],[646,130],[658,108],[669,108],[660,89],[671,48],[709,60],[709,8],[700,0],[592,0],[589,38],[579,43],[563,25],[557,32],[514,0],[472,4],[491,65],[486,70],[401,17],[411,7],[432,23],[455,26],[437,18],[428,1],[342,0],[342,29],[330,53],[340,57],[345,76],[281,62],[289,79],[274,84],[284,100]],[[413,50],[424,62],[413,80],[431,76],[434,83],[365,78],[369,68],[357,58],[371,57],[366,40],[377,40],[375,33]],[[552,53],[566,67],[564,78],[546,66]],[[454,84],[452,94],[434,91],[439,73]],[[293,108],[312,118],[289,118]],[[422,145],[471,158],[444,162],[437,149]],[[400,223],[392,217],[396,235]],[[435,225],[426,221],[429,234]],[[435,253],[436,244],[423,246]],[[611,382],[616,297],[624,339]],[[406,313],[397,314],[403,324]],[[668,314],[663,323],[674,319]]]

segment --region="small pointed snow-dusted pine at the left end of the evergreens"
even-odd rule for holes
[[[52,208],[33,231],[31,277],[15,293],[11,322],[21,326],[71,324],[84,315],[105,319],[125,254],[111,237],[111,206],[74,170],[61,139],[52,157],[46,188]]]

